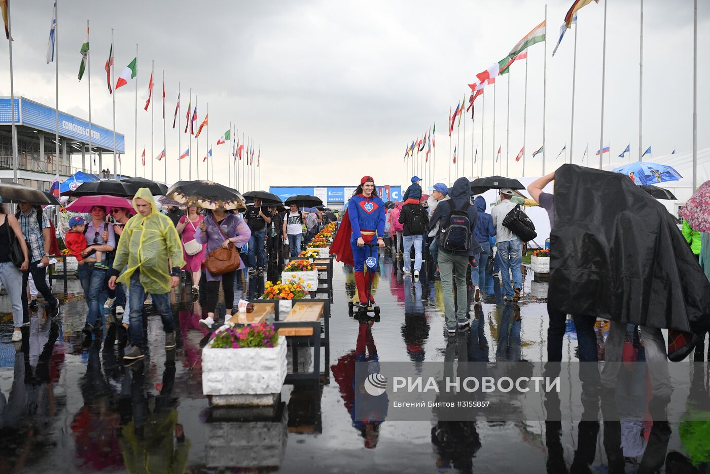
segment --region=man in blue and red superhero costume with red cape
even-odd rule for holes
[[[348,202],[348,208],[342,218],[330,253],[337,261],[354,267],[355,285],[360,298],[360,306],[367,307],[375,303],[370,288],[377,269],[378,247],[385,247],[381,235],[385,232],[385,203],[378,198],[375,181],[372,176],[363,176],[360,186]],[[377,242],[378,247],[365,249],[365,244]],[[367,267],[367,273],[364,273]],[[370,298],[366,298],[370,293]]]

